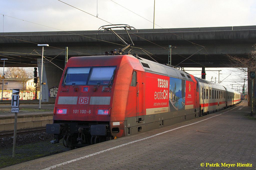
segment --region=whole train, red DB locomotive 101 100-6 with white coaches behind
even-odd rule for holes
[[[63,138],[66,147],[87,146],[227,107],[219,103],[227,101],[224,95],[204,100],[205,89],[217,91],[220,86],[136,55],[122,55],[125,48],[112,50],[111,55],[68,60],[58,88],[53,124],[46,126],[47,133],[55,134],[52,143]],[[206,107],[212,105],[215,107]]]

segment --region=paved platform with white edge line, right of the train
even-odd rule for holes
[[[198,119],[47,156],[3,170],[256,169],[256,121],[248,119],[245,116],[248,113],[250,108],[247,102],[242,101],[237,106]],[[223,167],[221,163],[234,164],[235,167]],[[237,163],[252,164],[252,167],[237,167]]]

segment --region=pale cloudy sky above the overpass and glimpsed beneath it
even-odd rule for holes
[[[136,29],[153,28],[154,0],[63,2],[91,15],[58,0],[0,0],[0,32],[97,30],[109,23],[129,24]],[[155,28],[255,25],[255,11],[255,0],[155,0],[155,24],[160,26],[155,25]],[[95,17],[97,14],[98,18]],[[208,80],[211,76],[215,77],[216,73],[208,74]],[[226,76],[221,75],[220,79],[221,77],[224,79]],[[232,79],[232,75],[229,77],[227,80]]]

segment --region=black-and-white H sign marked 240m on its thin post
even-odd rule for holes
[[[14,158],[15,157],[15,148],[16,148],[17,118],[18,118],[18,112],[19,112],[19,89],[13,89],[12,112],[15,113],[14,132],[13,132],[13,158]]]

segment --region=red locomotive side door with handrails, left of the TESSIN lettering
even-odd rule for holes
[[[137,71],[137,122],[144,120],[144,93],[145,84],[142,81],[142,72]]]

